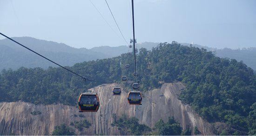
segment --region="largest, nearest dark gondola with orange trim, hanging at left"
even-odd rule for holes
[[[97,112],[100,100],[97,93],[81,93],[78,99],[79,112]]]

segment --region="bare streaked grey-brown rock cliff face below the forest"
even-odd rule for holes
[[[141,124],[153,128],[159,119],[167,120],[174,116],[183,128],[193,131],[197,126],[202,135],[213,135],[211,125],[199,117],[191,107],[182,104],[177,95],[184,86],[181,83],[163,84],[161,89],[143,93],[142,105],[129,105],[127,92],[113,96],[114,84],[105,84],[91,90],[98,93],[101,105],[98,112],[79,113],[74,106],[34,105],[24,102],[0,103],[0,135],[50,135],[54,126],[70,124],[86,118],[92,126],[83,131],[75,129],[77,135],[120,135],[113,122],[112,114],[127,114],[137,117]],[[31,115],[31,111],[40,111],[40,115]],[[79,117],[77,115],[84,115]]]

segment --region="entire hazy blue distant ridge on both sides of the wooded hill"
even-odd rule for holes
[[[59,62],[64,66],[73,66],[75,63],[110,58],[120,56],[123,53],[131,52],[132,49],[125,45],[117,47],[100,46],[92,49],[86,48],[72,48],[64,43],[56,43],[52,41],[40,40],[32,37],[13,37],[20,43],[25,44],[31,49],[41,53],[42,55]],[[144,42],[136,43],[138,49],[146,48],[151,50],[159,43]],[[188,43],[181,43],[182,45],[189,46]],[[243,48],[243,49],[216,49],[207,46],[201,46],[193,44],[198,48],[204,48],[208,51],[214,52],[216,56],[221,58],[236,59],[237,61],[243,61],[247,66],[256,70],[256,48]],[[20,47],[16,43],[8,39],[0,40],[0,70],[2,69],[18,69],[20,67],[25,68],[48,68],[49,66],[56,67],[51,62],[42,59],[40,56],[36,56],[26,49]]]

